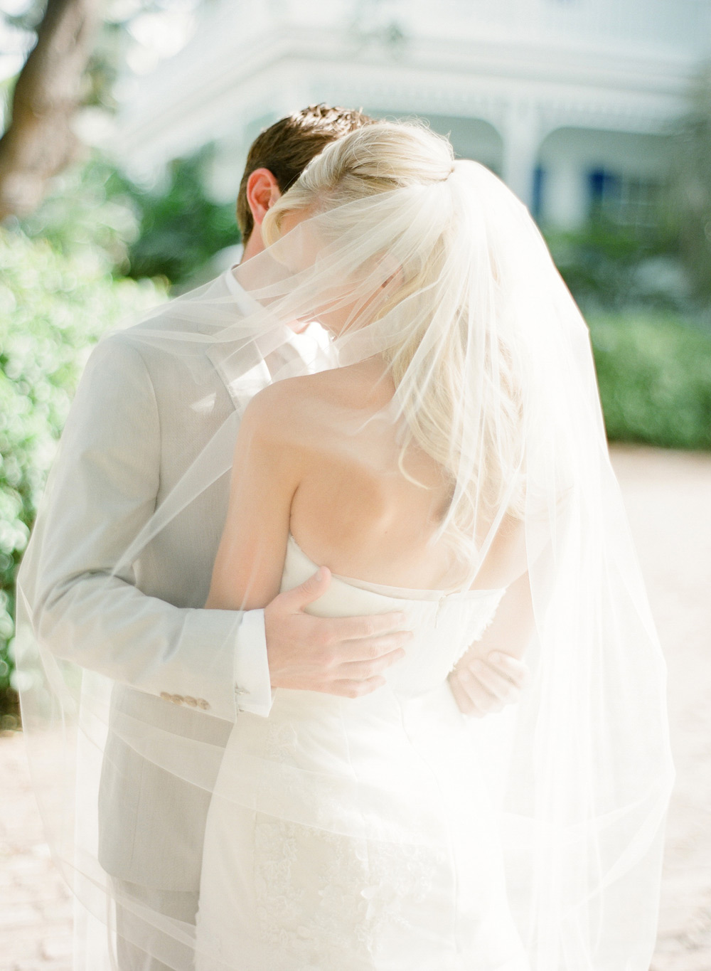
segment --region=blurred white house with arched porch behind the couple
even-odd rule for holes
[[[418,116],[498,172],[540,221],[603,205],[644,223],[670,124],[711,54],[711,0],[212,0],[191,41],[128,88],[138,170],[214,142],[237,192],[247,146],[325,101]]]

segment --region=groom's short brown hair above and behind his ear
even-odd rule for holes
[[[329,142],[335,142],[356,128],[372,124],[373,120],[362,110],[309,105],[301,112],[280,118],[258,135],[247,154],[237,196],[237,221],[242,230],[242,240],[246,243],[254,229],[254,219],[247,203],[247,179],[255,169],[269,169],[279,191],[283,193]]]

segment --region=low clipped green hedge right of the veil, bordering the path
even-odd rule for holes
[[[590,326],[608,438],[711,449],[711,334],[649,314]]]

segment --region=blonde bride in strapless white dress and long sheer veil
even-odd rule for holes
[[[659,659],[618,586],[584,327],[528,214],[445,140],[378,123],[263,233],[241,281],[259,340],[317,319],[339,366],[287,367],[247,407],[207,606],[264,607],[321,564],[314,614],[400,610],[412,637],[372,693],[279,688],[235,724],[198,969],[646,969],[664,743],[627,679]],[[535,683],[485,733],[447,675],[497,648]]]

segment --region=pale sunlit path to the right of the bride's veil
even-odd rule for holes
[[[711,456],[613,461],[668,667],[676,787],[653,971],[711,971]]]

